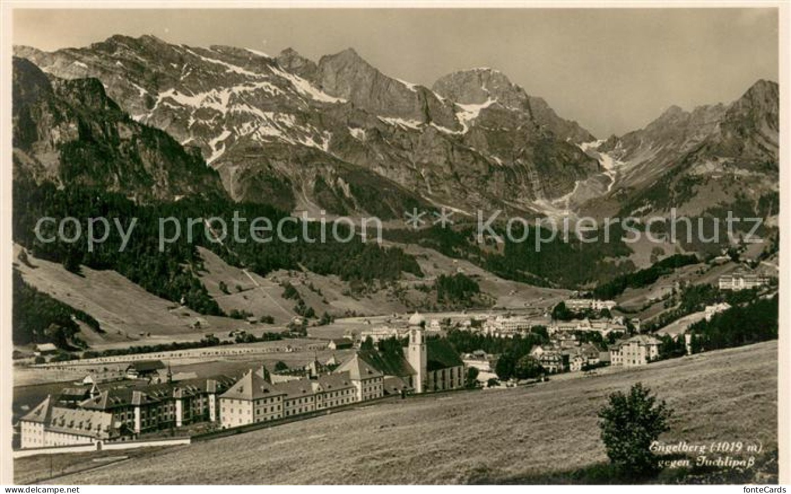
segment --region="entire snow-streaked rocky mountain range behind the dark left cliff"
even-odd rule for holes
[[[747,186],[756,204],[777,191],[770,81],[731,104],[670,107],[644,129],[596,140],[485,67],[428,89],[353,49],[314,62],[290,48],[272,57],[112,36],[15,52],[57,77],[96,77],[134,119],[199,149],[233,198],[281,209],[384,219],[418,206],[471,216],[702,213]]]

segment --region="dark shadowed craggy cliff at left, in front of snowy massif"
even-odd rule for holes
[[[135,122],[92,78],[47,77],[13,59],[13,173],[141,200],[225,194],[217,172],[168,134]]]

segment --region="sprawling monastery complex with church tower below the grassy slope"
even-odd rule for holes
[[[421,316],[412,316],[409,345],[403,351],[360,350],[327,373],[320,373],[326,369],[314,362],[306,366],[305,377],[273,379],[276,376],[262,367],[240,379],[218,376],[64,390],[62,400],[47,398],[22,417],[22,444],[44,447],[134,439],[203,422],[232,428],[388,394],[463,388],[464,362],[447,341],[426,338],[424,325]]]

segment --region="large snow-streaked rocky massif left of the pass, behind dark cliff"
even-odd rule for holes
[[[540,213],[540,202],[600,171],[575,145],[592,138],[587,131],[494,71],[496,100],[483,105],[441,94],[462,95],[464,73],[427,89],[381,74],[353,50],[312,62],[293,50],[270,57],[112,36],[15,52],[57,77],[96,77],[134,119],[199,148],[233,198],[283,209]]]

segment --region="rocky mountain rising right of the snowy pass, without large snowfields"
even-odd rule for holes
[[[730,104],[672,106],[641,130],[582,147],[604,176],[578,184],[572,209],[592,216],[687,215],[732,207],[776,214],[759,202],[778,194],[778,85],[757,81]],[[777,206],[777,201],[774,201]]]

